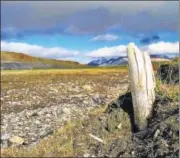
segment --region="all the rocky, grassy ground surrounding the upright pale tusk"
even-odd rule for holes
[[[3,74],[1,146],[20,147],[3,155],[179,157],[177,85],[157,80],[148,128],[137,131],[127,73],[92,72]]]

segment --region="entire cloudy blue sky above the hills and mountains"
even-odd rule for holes
[[[1,50],[87,63],[179,53],[179,1],[1,1]]]

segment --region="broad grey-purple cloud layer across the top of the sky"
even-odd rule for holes
[[[13,27],[23,35],[26,31],[95,35],[110,28],[131,34],[177,32],[178,4],[178,1],[3,1],[1,28]]]

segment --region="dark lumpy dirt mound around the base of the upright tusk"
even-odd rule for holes
[[[91,124],[93,134],[99,138],[106,136],[107,144],[89,144],[89,156],[178,157],[178,113],[178,103],[157,94],[148,128],[137,131],[133,123],[131,94],[122,95]]]

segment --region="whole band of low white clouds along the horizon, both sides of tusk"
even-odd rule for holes
[[[126,56],[127,45],[118,45],[112,47],[103,47],[96,50],[82,53],[80,51],[69,50],[61,47],[43,47],[39,45],[30,45],[27,43],[16,43],[1,41],[1,51],[12,51],[26,53],[32,56],[62,59],[62,60],[74,60],[81,63],[89,61],[90,58],[98,57],[117,57]],[[160,53],[179,53],[179,42],[158,42],[150,44],[146,47],[139,47],[140,50],[146,51],[150,54]]]

